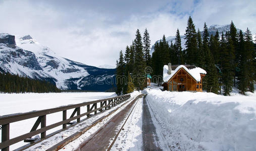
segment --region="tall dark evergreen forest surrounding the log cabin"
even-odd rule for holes
[[[185,49],[182,49],[179,29],[177,29],[174,43],[171,42],[170,45],[164,35],[160,42],[155,43],[155,51],[151,57],[148,31],[145,30],[141,38],[137,30],[132,45],[126,47],[125,56],[120,51],[117,75],[132,76],[131,82],[134,87],[141,90],[146,85],[138,82],[137,75],[144,75],[145,80],[145,66],[152,67],[152,75],[162,76],[163,66],[169,62],[194,64],[207,71],[203,79],[203,90],[207,92],[230,95],[233,87],[238,88],[241,94],[254,91],[256,49],[248,28],[245,33],[241,30],[237,31],[231,21],[228,32],[219,33],[217,30],[215,35],[209,35],[208,27],[204,23],[201,35],[199,29],[195,30],[192,18],[189,17],[185,40]],[[161,84],[162,80],[153,82]],[[117,81],[117,94],[129,93],[128,83],[125,80]]]

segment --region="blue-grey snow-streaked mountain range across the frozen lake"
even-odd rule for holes
[[[115,69],[103,69],[58,56],[30,35],[0,33],[0,71],[48,80],[60,89],[106,91],[106,78]],[[100,84],[99,84],[100,83]]]

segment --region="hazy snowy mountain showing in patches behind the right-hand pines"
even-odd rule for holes
[[[209,35],[210,36],[215,35],[217,29],[218,29],[218,32],[220,33],[220,36],[221,36],[222,32],[225,34],[227,31],[229,31],[230,25],[229,24],[227,24],[227,25],[211,25],[208,28]],[[201,35],[202,35],[202,31],[201,31]],[[180,35],[180,38],[181,38],[181,47],[185,48],[185,42],[186,42],[186,40],[184,39],[185,35]],[[169,36],[169,37],[166,38],[166,40],[168,41],[169,45],[171,45],[171,41],[174,44],[175,36]],[[157,42],[160,42],[160,40],[156,41],[155,43],[157,43]],[[151,50],[150,50],[150,54],[152,55],[152,53],[154,51],[155,51],[155,44],[152,45]]]

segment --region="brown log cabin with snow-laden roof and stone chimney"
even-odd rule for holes
[[[206,71],[195,65],[164,65],[163,87],[167,91],[202,92],[202,79]],[[173,69],[173,70],[172,70]]]

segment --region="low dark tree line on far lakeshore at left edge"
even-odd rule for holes
[[[0,73],[0,92],[4,93],[49,93],[61,92],[56,85],[41,80],[19,77],[11,73]]]

